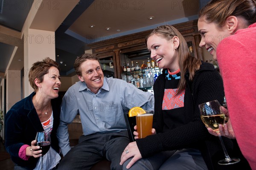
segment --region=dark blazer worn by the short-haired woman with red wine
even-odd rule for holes
[[[18,156],[20,147],[24,144],[31,146],[32,140],[35,140],[37,131],[44,131],[38,114],[35,111],[32,103],[33,92],[28,97],[17,102],[6,113],[5,116],[5,147],[7,152],[11,155],[12,161],[21,167],[35,168],[38,159],[31,156],[29,160],[25,161]],[[51,100],[53,111],[53,128],[51,133],[51,147],[59,153],[58,139],[56,131],[60,122],[60,105],[61,99],[56,98]]]

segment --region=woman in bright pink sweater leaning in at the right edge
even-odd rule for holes
[[[255,0],[211,0],[199,11],[198,30],[200,47],[218,59],[224,82],[228,108],[224,112],[230,121],[220,125],[221,135],[236,138],[250,167],[256,170]]]

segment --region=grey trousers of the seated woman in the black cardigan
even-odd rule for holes
[[[123,170],[132,158],[125,161]],[[207,165],[196,149],[165,151],[147,159],[140,159],[129,170],[207,170]]]

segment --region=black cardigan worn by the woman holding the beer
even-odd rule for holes
[[[202,62],[202,65],[195,73],[192,82],[189,81],[189,73],[186,72],[186,89],[184,96],[185,119],[186,125],[168,130],[163,130],[162,103],[164,95],[164,85],[166,77],[160,74],[154,83],[154,122],[153,127],[157,134],[147,136],[144,139],[137,139],[137,146],[143,158],[165,150],[177,150],[182,148],[196,148],[201,150],[202,156],[209,170],[215,168],[227,169],[227,166],[219,167],[218,160],[224,159],[224,153],[219,143],[219,139],[208,133],[207,128],[200,118],[198,105],[204,102],[217,99],[223,103],[224,88],[220,74],[213,65]],[[166,121],[166,120],[165,120]],[[230,139],[224,138],[225,146],[228,149],[233,148]],[[212,160],[212,156],[216,156],[216,160]],[[218,159],[218,160],[217,160]],[[186,163],[186,162],[184,162]]]

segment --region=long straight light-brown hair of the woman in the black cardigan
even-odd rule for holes
[[[146,45],[148,38],[154,34],[156,34],[159,37],[163,37],[166,40],[171,40],[174,36],[177,36],[180,40],[180,45],[176,49],[179,54],[178,64],[180,67],[180,82],[176,94],[180,94],[180,92],[186,88],[186,71],[189,71],[189,80],[193,80],[195,76],[195,71],[199,70],[200,68],[201,60],[193,57],[189,53],[189,48],[185,38],[180,34],[180,32],[175,27],[169,25],[158,26],[146,37]]]

